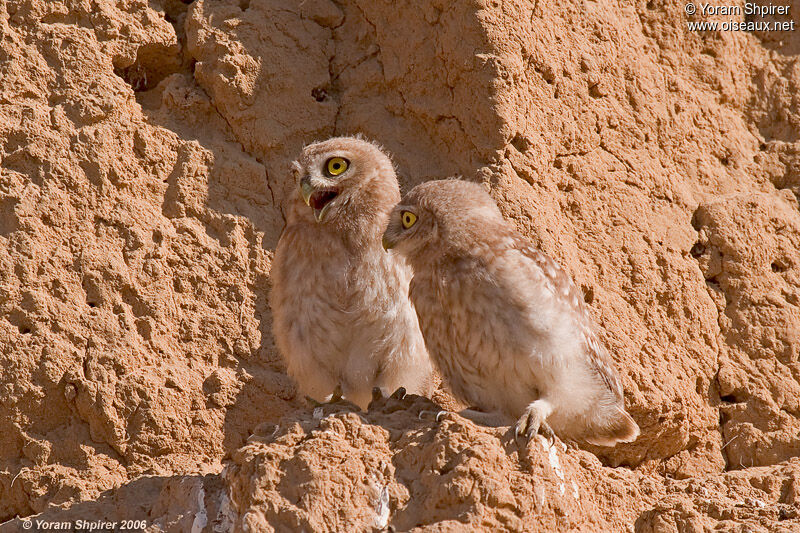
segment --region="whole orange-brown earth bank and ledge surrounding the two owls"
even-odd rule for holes
[[[687,29],[731,18],[0,1],[0,531],[800,531],[800,28]],[[635,443],[297,397],[269,311],[288,163],[355,133],[405,189],[485,183],[574,276]]]

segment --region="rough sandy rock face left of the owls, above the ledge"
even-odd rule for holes
[[[263,165],[185,75],[136,100],[146,50],[180,68],[164,13],[85,8],[0,16],[2,518],[213,464],[293,394],[262,320]]]

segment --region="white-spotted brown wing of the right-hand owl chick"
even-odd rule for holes
[[[597,326],[586,308],[583,293],[578,289],[578,286],[558,263],[541,250],[537,250],[527,239],[515,235],[513,246],[542,270],[547,279],[548,287],[553,291],[553,294],[574,311],[590,364],[597,371],[606,387],[617,398],[622,398],[622,385],[612,365],[611,356],[595,333]]]

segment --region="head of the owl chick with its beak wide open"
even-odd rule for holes
[[[292,163],[298,184],[295,216],[317,224],[379,224],[400,199],[392,161],[379,146],[358,137],[310,144]]]

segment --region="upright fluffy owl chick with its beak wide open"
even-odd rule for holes
[[[411,270],[381,246],[400,199],[391,161],[370,142],[339,137],[307,146],[293,168],[299,190],[275,250],[271,295],[289,375],[311,398],[341,388],[362,408],[373,387],[429,394]]]

